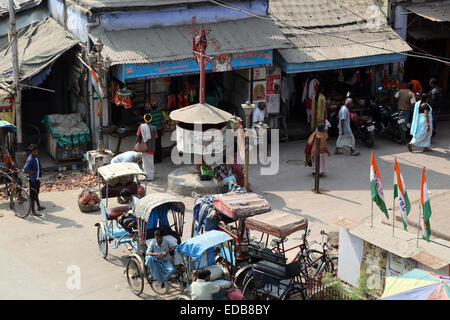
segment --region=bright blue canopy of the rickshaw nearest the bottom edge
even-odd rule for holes
[[[233,240],[233,238],[223,232],[211,230],[193,238],[187,239],[176,248],[176,251],[186,257],[192,258],[197,263],[200,263],[202,254],[224,242]]]

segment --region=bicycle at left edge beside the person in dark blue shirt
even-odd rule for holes
[[[30,195],[28,194],[28,179],[19,170],[0,170],[0,181],[4,184],[0,195],[3,199],[9,198],[9,207],[19,218],[25,219],[31,212]]]

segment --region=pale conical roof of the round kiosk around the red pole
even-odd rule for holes
[[[234,116],[207,103],[197,103],[172,111],[170,118],[184,123],[219,124],[230,121]]]

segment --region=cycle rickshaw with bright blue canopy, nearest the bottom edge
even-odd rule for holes
[[[204,269],[211,272],[210,282],[221,288],[233,287],[233,277],[236,266],[222,259],[220,253],[234,246],[234,239],[228,233],[211,230],[190,238],[177,246],[175,254],[180,258],[179,263],[184,266],[184,279],[190,292],[194,271],[197,274]],[[234,250],[231,250],[233,252]],[[232,256],[231,261],[235,261]],[[224,293],[213,295],[214,300],[225,299]],[[190,294],[180,295],[177,300],[191,300]]]

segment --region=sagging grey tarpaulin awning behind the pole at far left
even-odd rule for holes
[[[20,80],[25,80],[41,72],[64,52],[78,44],[53,18],[32,23],[19,30],[18,53]],[[12,57],[7,39],[0,39],[0,82],[12,82]]]

